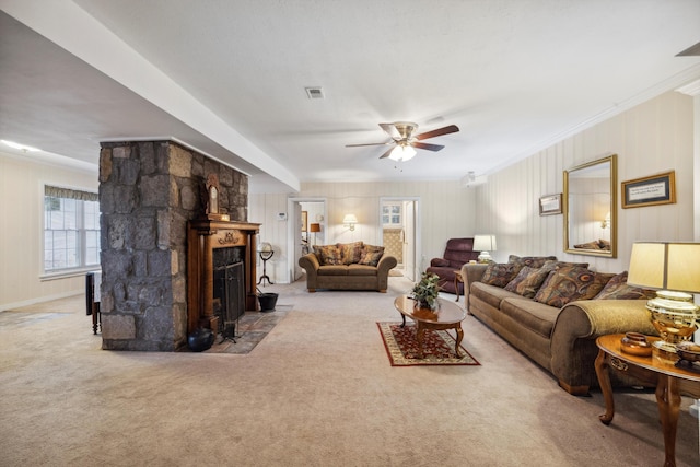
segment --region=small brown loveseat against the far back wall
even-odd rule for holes
[[[314,246],[314,252],[299,258],[306,272],[306,289],[376,290],[386,293],[389,270],[396,258],[384,254],[383,246],[363,242]]]

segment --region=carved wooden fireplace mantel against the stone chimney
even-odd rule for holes
[[[199,327],[214,332],[218,320],[213,313],[213,252],[217,248],[245,247],[245,310],[257,311],[256,235],[260,224],[196,219],[187,226],[187,334]]]

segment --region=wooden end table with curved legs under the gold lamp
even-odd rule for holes
[[[610,367],[627,373],[641,382],[656,386],[656,405],[664,433],[664,466],[676,465],[676,429],[680,411],[680,394],[700,398],[700,373],[677,367],[675,361],[654,353],[651,357],[637,357],[620,350],[622,334],[600,336],[596,339],[598,357],[595,359],[595,373],[598,376],[605,413],[600,422],[610,424],[615,416],[615,401],[610,385]],[[654,338],[650,338],[654,339]],[[654,352],[656,352],[654,350]]]

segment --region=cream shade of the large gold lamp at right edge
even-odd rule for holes
[[[627,283],[700,293],[700,243],[634,243]]]

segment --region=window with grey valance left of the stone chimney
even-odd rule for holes
[[[44,272],[100,266],[97,194],[44,187]]]

